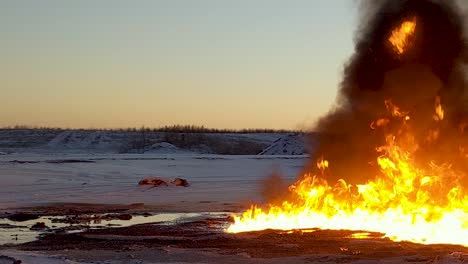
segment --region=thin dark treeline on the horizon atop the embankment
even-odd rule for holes
[[[245,128],[245,129],[220,129],[220,128],[207,128],[199,125],[171,125],[162,127],[146,127],[140,128],[60,128],[60,127],[46,127],[46,126],[28,126],[28,125],[15,125],[6,126],[0,129],[3,130],[77,130],[77,131],[110,131],[110,132],[169,132],[169,133],[301,133],[301,130],[288,130],[288,129],[267,129],[267,128]]]

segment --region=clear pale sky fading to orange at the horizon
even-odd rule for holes
[[[0,126],[303,128],[353,50],[350,0],[0,0]]]

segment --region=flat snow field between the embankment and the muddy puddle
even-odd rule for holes
[[[0,208],[47,203],[144,203],[197,211],[261,200],[273,172],[293,181],[305,156],[183,154],[8,154],[0,156]],[[142,188],[145,177],[184,178],[190,187]],[[200,209],[201,210],[201,209]]]

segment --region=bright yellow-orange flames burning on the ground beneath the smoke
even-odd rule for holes
[[[389,122],[397,122],[398,128],[386,134],[384,146],[376,148],[380,173],[374,179],[356,186],[345,180],[330,185],[324,178],[333,164],[322,159],[317,162],[319,175],[305,175],[291,185],[281,204],[254,205],[235,216],[227,232],[366,230],[384,233],[394,241],[468,246],[468,195],[458,183],[461,173],[450,164],[417,166],[413,119],[390,100],[385,104],[390,117],[374,122],[375,128]],[[439,98],[435,100],[435,116],[436,123],[442,121]]]

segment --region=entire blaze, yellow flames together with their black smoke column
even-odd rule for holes
[[[363,2],[364,3],[364,2]],[[467,60],[454,1],[367,1],[336,107],[283,200],[228,232],[349,229],[468,246]]]

